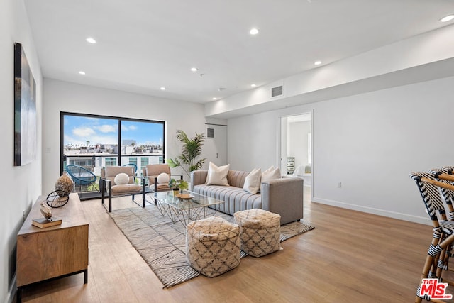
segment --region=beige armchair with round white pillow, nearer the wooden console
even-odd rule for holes
[[[101,169],[101,203],[104,207],[104,198],[106,194],[109,197],[109,206],[107,210],[112,211],[112,198],[122,196],[133,196],[133,202],[135,202],[135,194],[142,195],[142,205],[145,207],[145,194],[146,184],[145,178],[142,178],[141,184],[135,184],[135,171],[131,166],[106,166]]]

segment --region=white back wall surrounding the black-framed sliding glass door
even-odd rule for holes
[[[202,104],[175,101],[142,94],[132,94],[112,89],[101,89],[54,79],[44,80],[43,91],[43,193],[54,190],[60,174],[60,111],[82,114],[98,114],[135,119],[166,121],[166,157],[175,158],[181,145],[175,132],[182,129],[189,137],[205,133],[206,119]],[[226,123],[216,120],[211,123]],[[204,145],[204,155],[216,155]],[[209,159],[206,161],[206,167]],[[182,174],[179,169],[172,173]],[[187,179],[187,177],[185,177]]]

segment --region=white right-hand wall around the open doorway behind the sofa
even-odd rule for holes
[[[409,172],[453,165],[453,94],[448,77],[229,119],[228,162],[275,165],[279,116],[314,109],[313,201],[428,223]]]

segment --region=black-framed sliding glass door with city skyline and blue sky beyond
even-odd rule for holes
[[[164,161],[162,121],[67,113],[61,119],[62,173],[67,165],[78,165],[97,177],[96,183],[74,187],[74,191],[97,192],[102,167],[131,165],[140,177],[142,167]]]

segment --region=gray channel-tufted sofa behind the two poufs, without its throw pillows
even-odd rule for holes
[[[226,214],[246,209],[264,209],[281,215],[281,225],[303,218],[303,180],[297,177],[262,182],[258,194],[250,194],[243,189],[245,177],[249,172],[229,170],[227,174],[230,186],[206,185],[208,170],[191,172],[192,192],[204,194],[225,201],[215,206]]]

